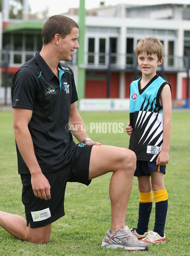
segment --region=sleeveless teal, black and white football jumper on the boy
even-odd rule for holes
[[[133,128],[129,149],[137,160],[156,162],[163,143],[163,116],[160,94],[169,84],[157,74],[141,89],[140,80],[130,84],[130,125]],[[170,89],[171,85],[169,84]]]

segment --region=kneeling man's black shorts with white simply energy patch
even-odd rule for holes
[[[93,145],[78,144],[73,151],[70,164],[63,170],[43,173],[51,186],[51,199],[47,201],[35,197],[31,175],[21,174],[22,203],[25,206],[27,226],[31,228],[46,226],[65,215],[64,196],[67,182],[79,182],[89,185],[90,155]]]

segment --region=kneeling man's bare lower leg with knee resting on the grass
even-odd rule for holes
[[[0,226],[22,241],[46,244],[50,239],[51,224],[40,228],[30,228],[30,224],[27,227],[26,220],[17,214],[0,211]]]

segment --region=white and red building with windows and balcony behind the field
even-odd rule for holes
[[[9,56],[9,87],[17,69],[42,47],[41,29],[46,19],[31,20],[27,10],[24,13],[19,21],[1,18],[2,50],[8,49]],[[63,15],[79,21],[78,9],[72,8]],[[185,100],[190,96],[190,4],[117,4],[86,10],[83,65],[86,79],[81,98],[128,99],[131,81],[141,76],[136,45],[138,40],[149,36],[155,36],[164,45],[164,61],[157,73],[172,85],[174,104],[188,104]],[[76,52],[72,61],[66,63],[73,69],[75,78],[79,68]],[[1,69],[3,87],[6,67]],[[80,82],[77,79],[75,82],[79,91]],[[89,102],[92,105],[93,100]]]

